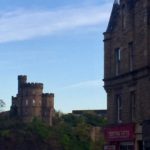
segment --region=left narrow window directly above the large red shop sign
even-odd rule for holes
[[[122,123],[122,100],[121,100],[121,96],[117,95],[116,100],[117,100],[117,122]]]

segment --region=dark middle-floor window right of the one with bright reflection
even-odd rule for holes
[[[128,47],[129,47],[129,68],[130,68],[130,71],[132,71],[133,70],[133,59],[134,59],[134,55],[133,55],[133,50],[134,50],[133,42],[130,42],[128,44]]]

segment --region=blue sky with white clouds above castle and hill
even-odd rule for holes
[[[103,32],[113,0],[0,0],[0,99],[17,76],[55,93],[55,109],[106,109]]]

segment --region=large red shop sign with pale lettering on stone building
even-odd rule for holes
[[[105,138],[107,141],[124,141],[134,139],[134,125],[119,125],[105,129]]]

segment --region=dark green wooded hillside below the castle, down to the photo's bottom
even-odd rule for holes
[[[85,115],[86,116],[86,115]],[[104,119],[88,119],[71,114],[55,116],[54,126],[49,127],[34,119],[29,124],[18,118],[0,118],[0,150],[97,150],[103,139],[93,142],[91,124],[105,124]],[[94,121],[95,120],[95,121]]]

